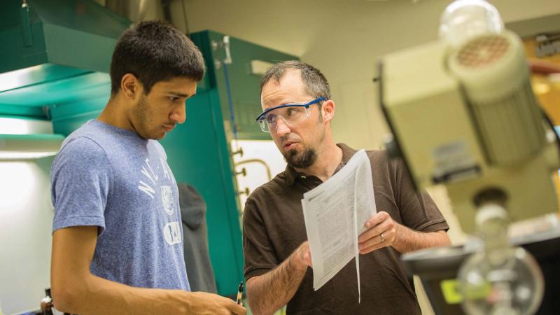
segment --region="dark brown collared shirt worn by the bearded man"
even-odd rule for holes
[[[343,167],[355,150],[344,144]],[[435,232],[449,227],[427,193],[414,191],[402,164],[388,160],[384,151],[367,151],[372,166],[377,211],[413,230]],[[265,274],[286,260],[307,240],[301,200],[321,185],[316,176],[297,174],[291,167],[257,188],[245,205],[243,248],[245,279]],[[392,247],[360,255],[361,303],[358,304],[356,263],[351,260],[319,290],[307,269],[300,287],[288,302],[288,314],[421,314],[414,284]]]

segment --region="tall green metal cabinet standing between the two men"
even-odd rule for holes
[[[251,73],[251,60],[274,63],[297,57],[231,37],[232,63],[223,64],[225,48],[212,45],[223,41],[223,36],[214,31],[191,34],[204,55],[207,74],[197,95],[187,101],[186,122],[160,142],[176,180],[197,188],[207,203],[209,251],[218,293],[235,295],[243,280],[243,250],[230,149],[235,137],[232,126],[237,126],[238,139],[269,139],[255,123],[261,111],[260,76]]]

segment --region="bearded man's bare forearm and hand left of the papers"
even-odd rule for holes
[[[305,241],[278,267],[248,279],[247,297],[253,314],[274,314],[286,305],[299,288],[308,266],[311,267],[311,254]]]

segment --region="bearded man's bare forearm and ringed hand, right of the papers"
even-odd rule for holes
[[[370,253],[376,249],[393,246],[400,253],[416,251],[428,247],[451,245],[447,233],[419,232],[393,221],[388,213],[381,211],[365,223],[368,229],[358,237],[361,254]],[[383,237],[381,237],[383,234]]]

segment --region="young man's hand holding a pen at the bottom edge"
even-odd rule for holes
[[[245,315],[247,310],[234,300],[220,295],[193,292],[189,294],[187,314],[223,314],[223,315]]]

